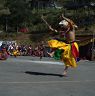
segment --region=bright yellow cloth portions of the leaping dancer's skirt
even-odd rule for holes
[[[78,49],[78,45],[76,42],[74,42],[76,48]],[[58,48],[58,49],[63,49],[64,52],[62,53],[62,61],[65,63],[66,66],[71,66],[71,67],[77,67],[77,63],[75,58],[72,55],[71,52],[71,44],[66,44],[65,42],[61,42],[58,40],[49,40],[48,45],[51,48]]]

